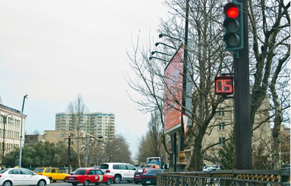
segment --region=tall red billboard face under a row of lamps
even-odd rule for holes
[[[181,124],[183,54],[181,45],[164,71],[165,133],[180,127]]]

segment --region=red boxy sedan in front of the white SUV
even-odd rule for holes
[[[95,185],[106,184],[111,185],[113,175],[104,174],[100,169],[81,168],[74,172],[73,175],[66,176],[64,182],[71,183],[73,186],[83,184],[88,186],[93,183]]]

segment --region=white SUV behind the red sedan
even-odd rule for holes
[[[128,163],[102,163],[100,168],[104,174],[113,175],[113,182],[118,184],[121,180],[132,182],[136,168]]]

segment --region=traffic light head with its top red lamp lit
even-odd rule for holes
[[[224,6],[225,34],[223,37],[227,51],[237,51],[243,48],[242,3],[229,2]]]

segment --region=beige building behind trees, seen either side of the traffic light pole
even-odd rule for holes
[[[204,153],[204,157],[209,159],[215,159],[217,157],[218,151],[223,148],[226,144],[226,140],[234,132],[235,115],[234,115],[234,105],[233,100],[226,99],[220,107],[217,108],[217,112],[213,119],[211,120],[206,134],[203,138],[203,148],[214,145],[212,148],[208,149]],[[264,100],[261,107],[255,116],[254,125],[252,128],[252,149],[255,150],[259,146],[264,145],[265,150],[264,155],[269,154],[272,141],[272,129],[270,124],[270,112],[269,105],[270,101],[268,97]],[[270,157],[271,158],[271,157]],[[206,163],[215,163],[207,162]]]

